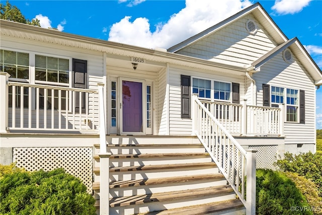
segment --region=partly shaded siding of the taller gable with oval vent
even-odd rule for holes
[[[257,33],[250,34],[246,22],[254,20]],[[252,14],[179,51],[179,54],[198,57],[230,65],[244,66],[255,61],[276,43]]]

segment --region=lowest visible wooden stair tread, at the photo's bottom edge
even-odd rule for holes
[[[207,204],[192,205],[187,207],[174,208],[162,211],[152,211],[140,213],[139,215],[195,215],[208,214],[213,212],[225,211],[234,208],[244,207],[244,204],[239,199],[231,199],[226,201],[217,201]]]

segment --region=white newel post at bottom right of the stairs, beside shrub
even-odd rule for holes
[[[256,152],[246,150],[246,214],[256,213]]]

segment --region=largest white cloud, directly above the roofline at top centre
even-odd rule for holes
[[[147,18],[131,21],[131,17],[126,16],[112,25],[108,40],[147,48],[169,48],[250,5],[249,0],[186,0],[186,7],[173,14],[166,23],[156,25],[154,32],[150,31]]]

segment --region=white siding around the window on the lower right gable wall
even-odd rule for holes
[[[282,52],[261,67],[253,78],[257,84],[257,103],[263,104],[262,84],[305,91],[305,124],[284,123],[285,144],[315,144],[315,86],[305,68],[293,55],[284,61]],[[303,150],[305,150],[303,148]]]

